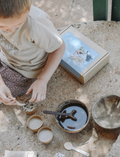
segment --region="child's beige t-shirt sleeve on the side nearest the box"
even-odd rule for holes
[[[37,19],[34,29],[31,32],[31,38],[36,45],[48,53],[55,51],[63,43],[46,13]]]

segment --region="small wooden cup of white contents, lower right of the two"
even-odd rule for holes
[[[42,127],[38,130],[37,137],[42,143],[49,144],[53,139],[53,132],[49,127]]]

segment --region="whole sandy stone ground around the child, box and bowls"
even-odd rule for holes
[[[119,129],[106,130],[94,123],[92,116],[88,126],[81,132],[70,134],[58,127],[54,116],[44,115],[43,110],[55,110],[57,106],[69,99],[83,101],[88,106],[90,115],[92,106],[103,95],[120,95],[120,23],[92,22],[92,0],[34,0],[33,4],[46,11],[56,28],[71,23],[79,23],[77,29],[110,53],[110,61],[85,85],[79,83],[62,67],[58,67],[48,83],[47,98],[38,103],[37,115],[49,126],[54,138],[49,145],[38,141],[26,124],[28,115],[18,106],[0,106],[0,157],[5,150],[38,152],[38,157],[54,157],[58,152],[66,157],[74,156],[74,151],[67,151],[63,144],[70,141],[75,147],[84,144],[96,129],[99,149],[91,157],[105,157],[117,139]],[[98,147],[97,147],[98,148]],[[91,153],[91,152],[89,152]],[[77,154],[79,156],[79,154]]]

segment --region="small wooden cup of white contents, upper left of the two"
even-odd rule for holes
[[[34,132],[37,132],[43,125],[42,118],[38,115],[32,115],[27,120],[27,126]]]

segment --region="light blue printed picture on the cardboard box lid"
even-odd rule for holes
[[[62,36],[62,39],[66,44],[66,50],[61,64],[64,64],[64,61],[79,74],[100,56],[98,52],[69,31]]]

